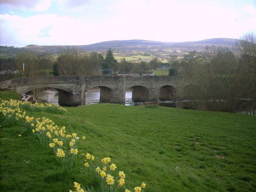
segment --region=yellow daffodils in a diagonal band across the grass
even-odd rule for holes
[[[61,161],[61,165],[66,173],[72,173],[78,159],[77,143],[79,137],[77,134],[66,134],[65,126],[59,127],[46,117],[34,118],[26,116],[25,110],[64,113],[66,109],[59,105],[24,103],[12,99],[10,101],[1,100],[0,103],[0,113],[4,116],[8,125],[15,123],[17,125],[24,124],[24,132],[32,132],[37,136],[42,146],[51,147],[56,158]],[[19,134],[18,137],[22,137],[22,134]],[[86,139],[86,137],[82,136],[82,139]],[[116,178],[112,176],[115,174],[114,171],[117,166],[111,163],[111,158],[105,157],[101,159],[101,165],[99,165],[94,162],[95,157],[93,155],[87,153],[86,155],[82,154],[82,156],[84,156],[84,167],[88,170],[88,174],[98,181],[100,191],[120,191],[123,189],[125,192],[132,192],[125,188],[125,174],[123,171],[119,171]],[[84,192],[80,185],[74,182],[76,192]],[[146,184],[142,182],[140,186],[134,187],[134,191],[141,192],[145,186]],[[72,190],[69,191],[73,192]],[[95,190],[91,189],[91,191]]]

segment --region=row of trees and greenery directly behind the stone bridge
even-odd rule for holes
[[[102,75],[106,75],[110,72],[110,69],[114,73],[148,71],[164,65],[169,65],[169,63],[162,63],[158,58],[153,58],[149,62],[129,62],[124,57],[121,62],[117,62],[111,48],[106,50],[105,54],[88,53],[77,47],[67,47],[58,55],[23,51],[16,54],[15,57],[0,58],[0,71],[18,70],[22,72],[16,75],[17,78],[47,76],[49,73],[55,76],[93,76],[100,75],[100,71]]]

